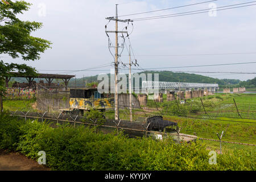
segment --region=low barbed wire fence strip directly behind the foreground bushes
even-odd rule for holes
[[[30,111],[23,112],[23,111],[10,111],[10,115],[21,117],[25,119],[38,119],[39,121],[42,119],[42,121],[52,121],[55,124],[58,123],[72,123],[74,127],[77,125],[87,125],[92,127],[97,127],[98,131],[102,131],[103,133],[110,133],[114,130],[120,131],[123,130],[123,133],[127,134],[129,137],[143,137],[148,135],[148,126],[147,123],[143,122],[129,122],[129,121],[122,121],[119,120],[113,121],[112,119],[105,119],[104,123],[98,123],[97,119],[93,121],[90,119],[86,119],[85,117],[82,117],[80,115],[68,115],[68,114],[49,114],[46,112],[44,113],[33,113]],[[56,127],[57,125],[54,125],[53,127]],[[203,139],[203,140],[211,140],[214,142],[220,142],[220,143],[233,143],[233,144],[242,144],[247,146],[256,146],[256,144],[250,144],[250,143],[240,143],[240,142],[230,142],[230,141],[222,141],[216,139],[210,139],[210,138],[199,138],[192,135],[180,135],[179,132],[177,133],[163,133],[154,131],[155,134],[160,134],[162,136],[166,135],[175,135],[178,137],[178,140],[182,140],[182,137],[188,137],[188,138],[195,138],[195,139]],[[222,133],[223,134],[223,133]]]

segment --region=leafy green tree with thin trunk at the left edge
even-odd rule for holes
[[[13,59],[22,57],[23,60],[38,60],[40,53],[51,48],[51,42],[31,36],[31,32],[42,28],[38,22],[22,21],[16,17],[28,11],[31,3],[25,1],[0,1],[0,54],[5,53]],[[26,75],[34,75],[34,68],[26,64],[7,64],[0,61],[0,103],[3,110],[2,97],[5,94],[5,77],[16,71]]]

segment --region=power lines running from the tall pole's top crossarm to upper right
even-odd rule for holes
[[[249,3],[252,3],[252,2],[249,2]],[[243,3],[241,3],[241,4],[243,4]],[[237,5],[240,5],[240,4],[237,4]],[[186,16],[186,15],[193,15],[193,14],[209,13],[209,10],[221,11],[221,10],[236,9],[236,8],[240,8],[240,7],[247,7],[247,6],[254,6],[254,5],[256,5],[256,4],[237,6],[237,7],[229,7],[229,8],[226,8],[226,9],[217,9],[217,8],[228,7],[228,6],[222,6],[222,7],[216,7],[216,9],[214,9],[214,10],[213,9],[205,9],[205,10],[208,10],[208,11],[204,11],[204,10],[188,11],[188,12],[184,12],[184,13],[170,14],[170,16],[168,16],[168,15],[160,15],[160,16],[157,16],[156,18],[149,18],[149,17],[137,18],[137,19],[133,19],[133,21],[151,20],[151,19],[162,19],[162,18],[171,18],[171,17],[176,17],[176,16]],[[229,5],[229,6],[236,6],[236,5]],[[197,12],[197,11],[202,11],[202,12]],[[197,12],[197,13],[189,13],[189,12]]]

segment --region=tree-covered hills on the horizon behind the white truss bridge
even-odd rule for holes
[[[207,77],[207,76],[202,76],[202,75],[196,75],[196,74],[189,74],[189,73],[174,73],[171,71],[159,71],[159,72],[140,72],[141,73],[159,73],[159,81],[166,81],[166,82],[196,82],[196,83],[208,83],[208,84],[219,84],[219,85],[234,85],[234,84],[239,84],[241,81],[240,80],[230,80],[230,79],[223,79],[220,80],[218,78],[212,78],[212,77]],[[154,80],[154,75],[152,75],[153,80]],[[87,81],[89,82],[94,82],[97,81],[97,76],[92,76],[92,77],[85,77],[85,78],[76,78],[72,79],[69,82],[69,86],[81,86],[83,82]]]

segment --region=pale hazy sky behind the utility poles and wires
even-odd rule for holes
[[[109,71],[67,72],[98,67],[112,63],[113,57],[108,49],[108,38],[105,34],[105,18],[115,15],[115,4],[118,14],[126,15],[144,11],[166,9],[168,7],[189,5],[196,1],[82,1],[82,0],[44,0],[27,1],[31,9],[20,15],[24,20],[35,20],[44,24],[32,35],[50,40],[52,49],[48,49],[37,61],[27,63],[40,73],[62,73],[76,77],[91,76]],[[249,1],[219,0],[217,7]],[[141,18],[146,16],[182,13],[185,11],[208,9],[209,3],[120,17]],[[208,13],[178,16],[134,22],[130,35],[134,54],[142,68],[183,67],[187,65],[246,63],[256,61],[256,6],[217,11],[217,16]],[[119,23],[122,30],[127,23]],[[114,30],[114,22],[108,24],[108,30]],[[128,31],[132,30],[130,24]],[[114,43],[113,35],[110,37]],[[129,41],[126,40],[126,43]],[[129,44],[127,44],[128,46]],[[112,48],[114,53],[114,49]],[[200,55],[255,52],[241,55]],[[128,63],[126,48],[121,57]],[[154,56],[150,56],[154,55]],[[160,56],[170,55],[170,56]],[[176,55],[176,56],[175,56]],[[177,56],[179,55],[179,56]],[[194,56],[192,56],[194,55]],[[195,56],[197,55],[197,56]],[[10,62],[24,63],[21,59],[12,60],[4,55],[2,59]],[[108,69],[113,67],[102,67]],[[169,71],[205,71],[205,72],[255,72],[256,64],[225,65],[216,67],[175,68]],[[51,71],[55,70],[55,71]],[[158,69],[159,70],[159,69]],[[126,71],[121,71],[125,72]],[[228,75],[223,73],[201,74],[216,78],[238,78],[247,80],[256,75]]]

